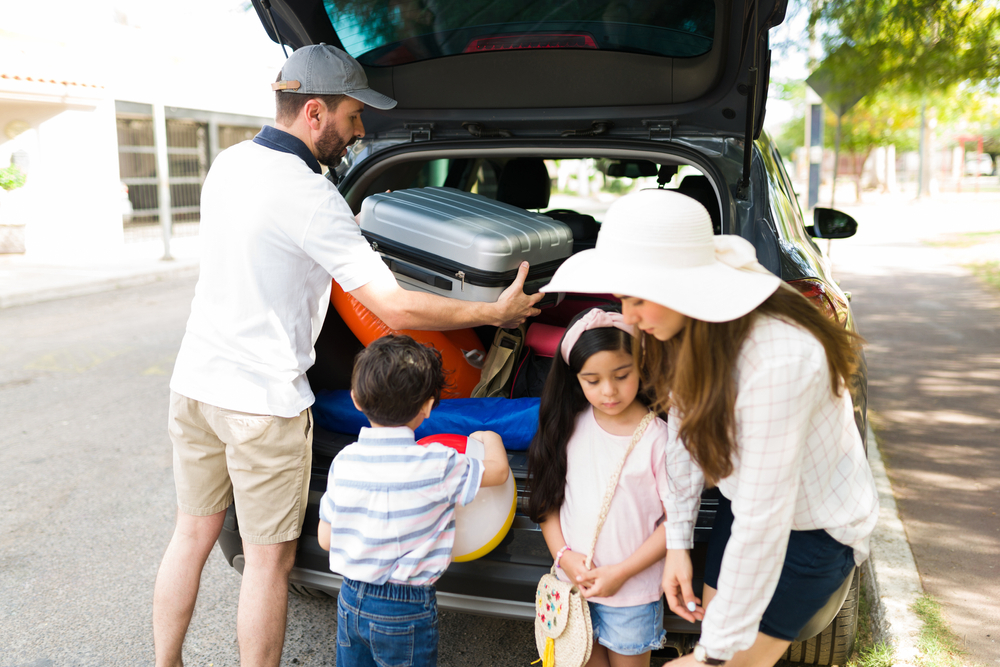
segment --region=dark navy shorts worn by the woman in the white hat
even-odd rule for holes
[[[732,503],[719,496],[705,558],[705,585],[715,589],[719,588],[722,555],[732,528]],[[793,530],[788,537],[778,587],[760,620],[760,632],[795,641],[799,631],[826,605],[853,569],[854,549],[833,539],[825,530]]]

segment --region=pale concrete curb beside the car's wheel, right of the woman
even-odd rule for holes
[[[909,667],[920,656],[917,640],[923,622],[913,612],[913,605],[924,589],[871,426],[868,464],[879,497],[879,520],[871,537],[871,556],[862,572],[865,592],[871,601],[872,639],[893,649],[894,665]]]

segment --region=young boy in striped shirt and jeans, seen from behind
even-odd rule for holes
[[[507,481],[507,453],[492,431],[469,436],[485,445],[483,461],[416,444],[413,431],[438,404],[445,377],[437,350],[409,336],[380,338],[358,354],[351,386],[372,426],[333,460],[318,530],[330,570],[344,576],[337,664],[436,665],[434,582],[451,562],[455,506]]]

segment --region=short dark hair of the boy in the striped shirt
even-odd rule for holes
[[[410,422],[428,398],[434,407],[446,384],[441,353],[409,336],[383,336],[358,353],[351,389],[368,419],[380,426]]]

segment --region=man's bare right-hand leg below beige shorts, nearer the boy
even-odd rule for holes
[[[243,667],[277,667],[281,660],[295,545],[296,540],[267,545],[243,542],[246,566],[236,619]]]

